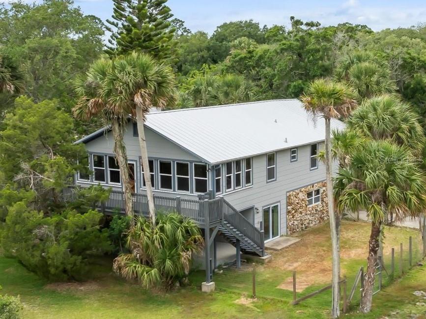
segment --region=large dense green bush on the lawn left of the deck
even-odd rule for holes
[[[99,229],[102,213],[65,210],[45,217],[25,202],[9,208],[1,232],[6,255],[50,280],[82,279],[89,256],[111,251],[108,230]]]

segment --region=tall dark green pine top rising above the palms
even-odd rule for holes
[[[170,58],[175,49],[167,0],[114,0],[106,53],[120,55],[133,50],[149,53],[158,60]]]

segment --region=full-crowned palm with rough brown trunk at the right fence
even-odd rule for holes
[[[393,213],[397,219],[419,216],[426,208],[426,177],[411,156],[409,149],[390,141],[370,140],[353,152],[350,165],[341,168],[335,180],[340,193],[338,207],[352,212],[366,210],[371,220],[361,299],[364,313],[371,310],[379,237],[386,215]]]

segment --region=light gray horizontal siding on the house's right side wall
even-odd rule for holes
[[[319,143],[319,149],[323,143]],[[297,161],[290,162],[290,150],[277,152],[276,180],[266,182],[266,155],[253,158],[253,186],[232,193],[224,198],[236,209],[244,210],[255,206],[255,225],[260,227],[263,220],[262,208],[280,203],[280,234],[286,234],[286,192],[325,180],[325,167],[318,161],[317,169],[310,169],[310,145],[298,147]]]

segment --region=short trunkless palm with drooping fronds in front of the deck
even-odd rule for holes
[[[163,285],[169,290],[187,277],[203,244],[198,225],[178,213],[158,214],[156,226],[138,217],[127,238],[132,254],[115,258],[114,271],[146,288]]]

